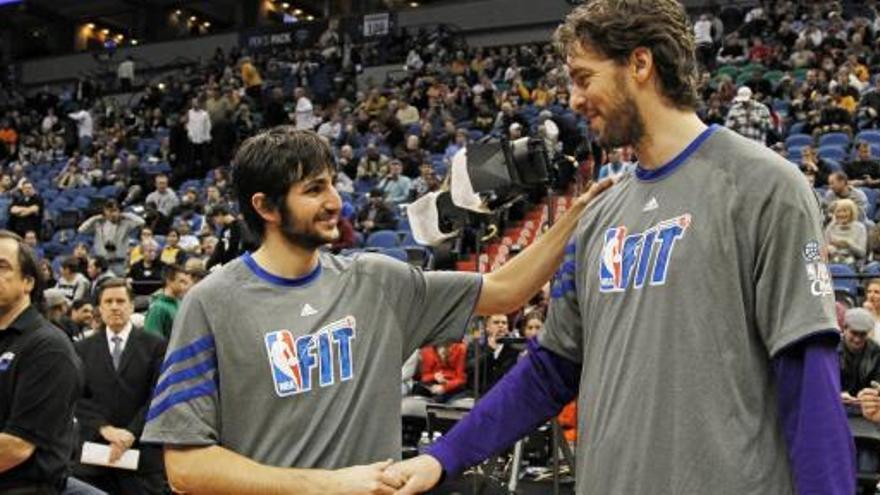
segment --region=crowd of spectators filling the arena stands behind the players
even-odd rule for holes
[[[871,264],[880,253],[876,2],[761,2],[694,19],[702,118],[799,167],[828,212],[830,261],[880,274]],[[27,96],[2,88],[0,225],[40,255],[51,321],[74,340],[105,326],[96,296],[122,277],[135,326],[167,338],[187,289],[255,245],[231,199],[229,165],[237,144],[267,127],[313,129],[331,143],[344,199],[334,251],[379,249],[403,260],[412,258],[402,248],[424,248],[412,246],[402,206],[439,190],[452,157],[484,136],[534,136],[552,119],[560,150],[583,174],[616,176],[638,161],[630,147],[591,142],[568,109],[567,74],[549,43],[468,47],[445,29],[382,43],[354,46],[331,24],[313,49],[218,49],[199,67],[151,81],[127,105],[89,81]],[[388,60],[406,70],[356,85],[365,65]],[[120,71],[126,91],[137,86],[129,62]],[[880,321],[880,288],[873,297],[852,282],[835,288],[852,305],[864,292]],[[538,295],[515,315],[487,319],[483,337],[423,349],[405,368],[404,391],[465,399],[477,366],[480,389],[490,388],[522,352],[504,338],[540,331],[545,304]]]

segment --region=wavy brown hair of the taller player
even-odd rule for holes
[[[678,108],[697,106],[696,42],[678,0],[590,0],[568,14],[555,41],[564,54],[579,45],[618,64],[647,48],[663,95]]]

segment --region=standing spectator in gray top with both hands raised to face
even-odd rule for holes
[[[95,255],[104,257],[117,274],[125,273],[128,255],[128,238],[131,232],[144,225],[144,219],[134,213],[123,213],[119,203],[108,200],[103,212],[95,215],[79,226],[80,234],[95,234],[92,250]]]

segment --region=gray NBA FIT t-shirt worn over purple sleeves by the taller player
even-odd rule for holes
[[[554,280],[540,340],[583,363],[579,494],[794,492],[771,358],[836,328],[819,209],[763,146],[701,138],[599,198]]]

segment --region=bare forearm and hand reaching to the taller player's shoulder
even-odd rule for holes
[[[528,302],[556,273],[565,254],[565,246],[591,200],[611,185],[604,180],[579,197],[547,232],[522,253],[483,279],[483,289],[476,313],[510,313]]]

